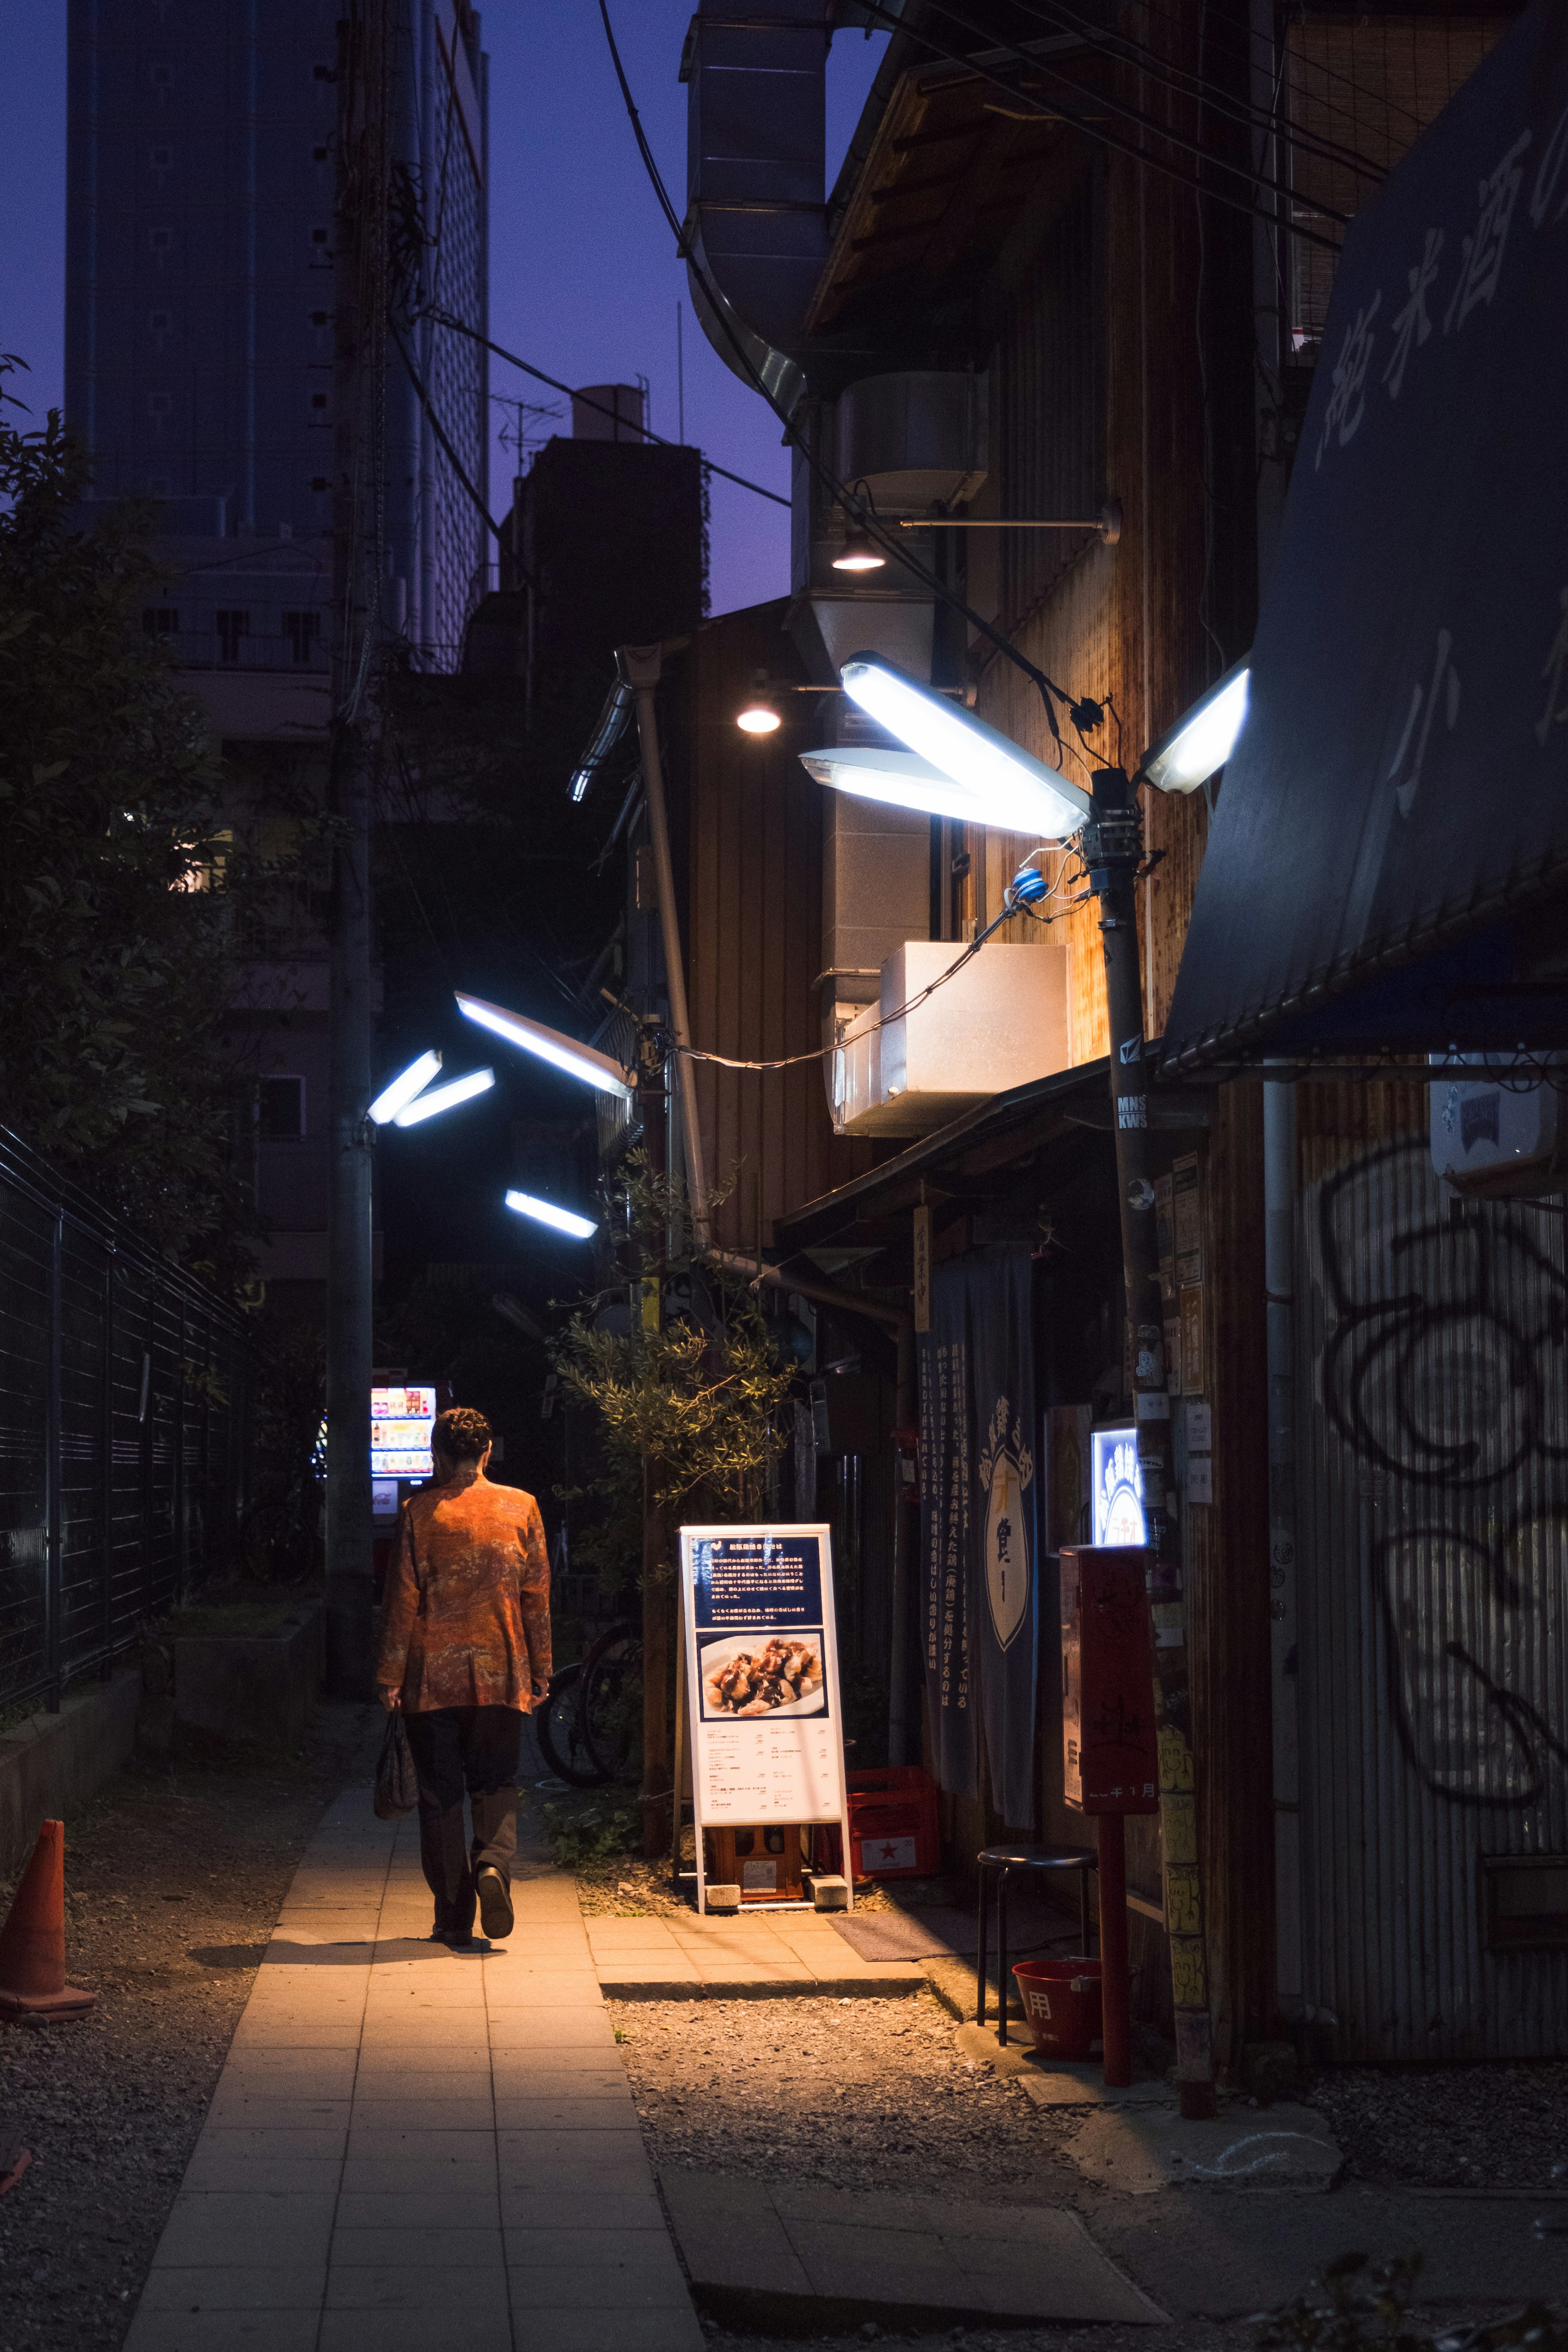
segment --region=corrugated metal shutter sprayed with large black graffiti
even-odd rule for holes
[[[1305,1997],[1340,2058],[1561,2053],[1481,1860],[1568,1853],[1563,1209],[1450,1207],[1425,1091],[1300,1115]]]

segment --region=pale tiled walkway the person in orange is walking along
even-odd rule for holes
[[[421,1940],[411,1820],[294,1877],[125,2352],[701,2352],[569,1875]]]

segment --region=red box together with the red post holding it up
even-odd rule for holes
[[[1098,1818],[1105,2082],[1131,2084],[1124,1813],[1159,1811],[1147,1552],[1070,1545],[1063,1559],[1065,1795]]]

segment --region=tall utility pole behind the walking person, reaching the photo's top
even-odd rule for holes
[[[327,1689],[371,1693],[371,903],[388,329],[388,0],[339,24],[327,1207]]]

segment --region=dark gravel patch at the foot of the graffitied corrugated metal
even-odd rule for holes
[[[1354,2180],[1568,2192],[1568,2065],[1326,2067],[1305,2096]]]

